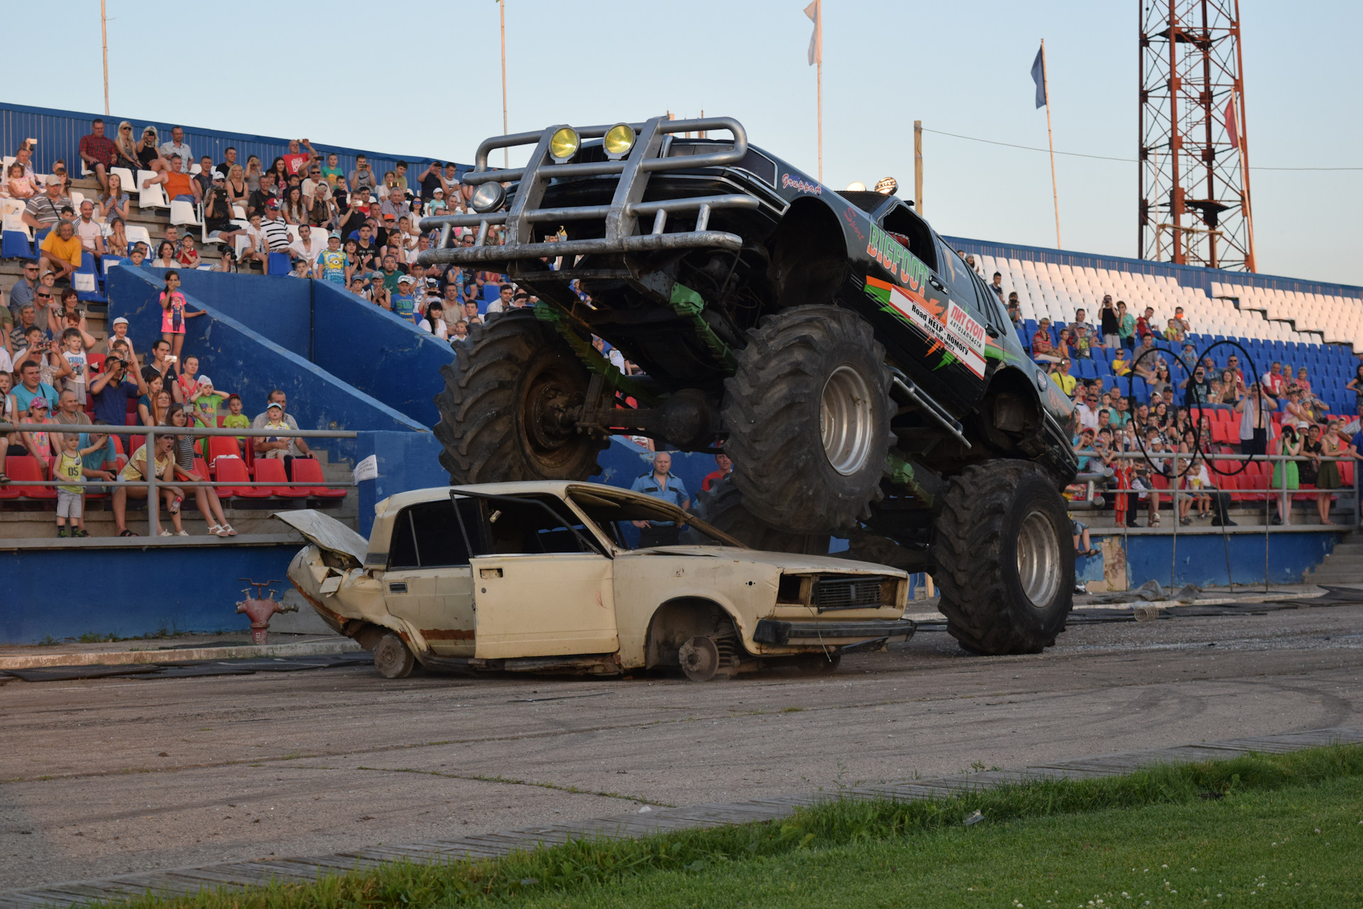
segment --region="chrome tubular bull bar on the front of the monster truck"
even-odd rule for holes
[[[654,252],[664,249],[720,248],[737,251],[743,238],[724,230],[710,230],[710,213],[716,209],[754,210],[759,202],[754,196],[731,194],[720,196],[695,196],[687,199],[667,199],[643,202],[643,191],[649,174],[660,170],[691,170],[695,168],[716,168],[737,164],[748,153],[747,131],[732,117],[702,117],[695,120],[668,120],[653,117],[642,124],[630,124],[635,131],[634,146],[620,161],[593,161],[585,164],[555,164],[549,157],[549,140],[564,124],[548,127],[540,132],[521,132],[510,136],[493,136],[478,146],[474,170],[465,174],[469,184],[492,180],[510,183],[519,180],[521,185],[507,211],[487,214],[436,215],[421,219],[421,230],[440,230],[435,249],[427,249],[418,256],[424,266],[435,263],[481,263],[510,262],[515,259],[541,259],[557,256],[579,256],[590,253]],[[615,124],[577,129],[583,139],[604,136]],[[710,154],[661,157],[667,150],[664,142],[677,132],[726,129],[733,136],[733,147]],[[534,144],[530,161],[523,168],[510,170],[488,170],[488,154],[496,149]],[[551,180],[559,177],[583,177],[620,174],[615,195],[604,206],[567,206],[541,209],[545,189]],[[696,213],[694,230],[667,233],[668,217],[679,213]],[[638,233],[639,218],[653,217],[650,233]],[[533,225],[540,222],[590,221],[601,218],[605,222],[605,236],[593,240],[566,240],[562,243],[533,243]],[[488,228],[506,226],[506,243],[487,245]],[[472,247],[450,245],[454,228],[477,228]]]

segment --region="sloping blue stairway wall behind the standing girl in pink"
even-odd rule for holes
[[[150,350],[161,337],[161,308],[157,303],[161,288],[154,271],[123,264],[109,271],[109,318],[128,319],[128,335],[139,350]],[[198,297],[187,294],[187,298],[192,309],[202,308],[209,315],[185,322],[183,353],[199,357],[200,371],[213,378],[217,388],[240,394],[245,413],[262,413],[270,390],[282,388],[289,395],[289,413],[298,421],[300,429],[429,435],[421,424],[352,388]],[[335,458],[354,458],[356,451],[353,440],[342,439],[318,439],[312,447],[330,451]]]

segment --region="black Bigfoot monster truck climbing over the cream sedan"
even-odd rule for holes
[[[515,146],[525,166],[489,169]],[[930,571],[966,650],[1054,643],[1074,412],[910,203],[836,192],[731,117],[493,136],[463,181],[473,213],[423,219],[440,236],[420,262],[506,273],[537,303],[443,368],[453,482],[585,480],[622,431],[722,450],[720,530],[799,552],[846,536],[852,557]]]

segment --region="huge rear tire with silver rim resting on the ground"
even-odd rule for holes
[[[934,529],[947,631],[975,653],[1041,653],[1065,628],[1074,542],[1065,499],[1037,466],[991,461],[951,478]]]

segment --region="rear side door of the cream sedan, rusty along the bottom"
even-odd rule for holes
[[[477,519],[476,503],[459,504]],[[454,507],[443,499],[398,512],[382,583],[388,612],[412,623],[432,651],[472,657],[473,568]]]

